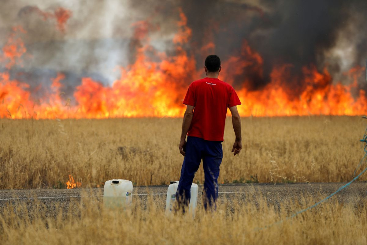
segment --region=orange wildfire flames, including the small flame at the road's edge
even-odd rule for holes
[[[33,10],[34,11],[34,10]],[[54,13],[43,13],[44,18],[56,18],[58,28],[65,30],[71,12],[59,8]],[[178,32],[172,38],[175,55],[155,52],[149,44],[151,24],[139,21],[134,38],[139,40],[135,62],[120,68],[120,78],[112,86],[103,86],[91,78],[83,78],[75,88],[73,98],[66,98],[62,91],[61,73],[52,80],[50,93],[42,98],[33,98],[29,85],[11,80],[9,70],[21,62],[26,52],[21,27],[14,28],[2,48],[0,62],[5,68],[0,72],[0,118],[115,118],[146,116],[182,116],[182,105],[188,84],[202,77],[197,71],[193,54],[182,46],[189,42],[191,29],[186,26],[186,16],[180,11]],[[210,42],[201,50],[213,50]],[[148,57],[146,52],[155,54]],[[232,84],[240,97],[238,107],[241,116],[291,116],[291,115],[362,115],[367,113],[367,98],[364,90],[358,89],[357,80],[364,68],[356,66],[345,72],[350,85],[333,83],[327,67],[318,71],[313,64],[302,68],[301,75],[292,76],[292,64],[274,66],[270,81],[263,87],[251,87],[256,79],[263,79],[263,58],[246,40],[239,54],[222,62],[220,79]],[[1,70],[0,70],[1,71]],[[241,80],[241,75],[246,74]],[[345,81],[344,81],[345,82]],[[241,85],[239,85],[241,84]],[[68,188],[75,188],[69,175]],[[80,184],[80,183],[79,183]]]

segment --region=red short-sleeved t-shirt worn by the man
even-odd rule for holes
[[[227,108],[241,102],[230,84],[204,78],[190,84],[183,104],[195,107],[188,136],[223,141]]]

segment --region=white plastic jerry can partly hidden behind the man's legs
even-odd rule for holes
[[[167,199],[166,199],[166,215],[169,216],[172,214],[173,205],[176,201],[176,191],[178,187],[178,181],[171,181],[167,190]],[[192,216],[195,217],[195,209],[197,206],[197,194],[198,188],[197,184],[191,185],[191,198],[189,203],[189,213],[192,213]]]

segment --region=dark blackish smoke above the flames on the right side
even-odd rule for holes
[[[208,0],[189,4],[185,1],[182,8],[193,28],[193,49],[205,45],[208,42],[205,35],[209,35],[216,44],[214,52],[226,60],[239,53],[246,39],[264,58],[264,74],[244,71],[234,79],[237,86],[250,78],[253,81],[250,89],[261,89],[269,82],[272,68],[283,63],[293,65],[294,76],[310,64],[319,70],[328,65],[331,74],[343,72],[343,68],[364,66],[366,1],[263,0],[255,6],[242,1]],[[355,55],[327,57],[325,54],[337,47],[337,40],[343,35],[350,35],[349,45],[355,46]],[[203,57],[198,59],[200,62]],[[341,67],[342,62],[349,67]]]

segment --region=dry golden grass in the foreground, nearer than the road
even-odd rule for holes
[[[252,195],[249,195],[252,197]],[[108,210],[95,199],[70,202],[56,215],[41,204],[27,209],[0,208],[1,244],[366,244],[367,202],[339,204],[330,200],[291,219],[305,207],[295,200],[267,205],[261,197],[224,201],[215,213],[198,209],[195,219],[168,219],[157,202],[147,208],[133,198],[133,209]],[[308,200],[312,203],[312,200]],[[255,205],[258,203],[258,205]],[[283,222],[279,222],[283,220]],[[277,223],[276,223],[277,222]],[[276,223],[276,224],[275,224]]]

